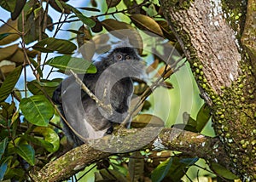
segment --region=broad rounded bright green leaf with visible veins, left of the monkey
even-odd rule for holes
[[[46,127],[54,114],[54,107],[44,95],[33,95],[20,100],[20,110],[28,122]]]

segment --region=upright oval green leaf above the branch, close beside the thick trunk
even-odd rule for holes
[[[200,111],[196,116],[196,130],[201,132],[201,130],[206,126],[207,122],[211,117],[211,109],[207,104],[201,106]]]

